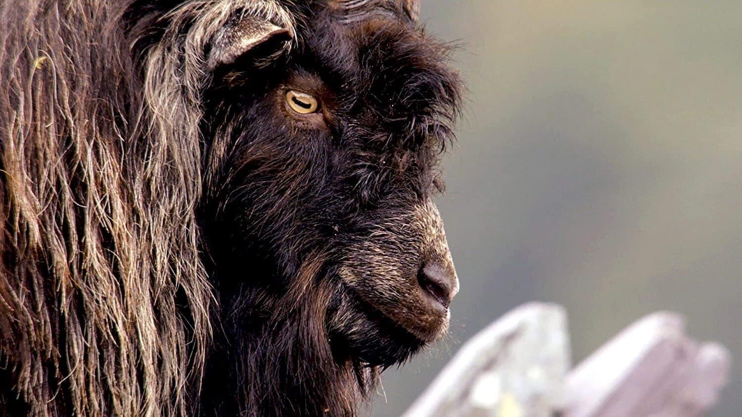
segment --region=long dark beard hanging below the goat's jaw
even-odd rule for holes
[[[352,416],[382,370],[425,344],[338,281],[320,279],[321,256],[287,288],[268,286],[278,279],[245,282],[238,271],[217,281],[205,414]]]

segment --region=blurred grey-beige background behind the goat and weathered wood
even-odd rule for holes
[[[423,0],[470,90],[439,199],[462,290],[451,337],[384,374],[398,416],[525,301],[569,313],[580,361],[677,310],[735,356],[742,414],[742,2]]]

